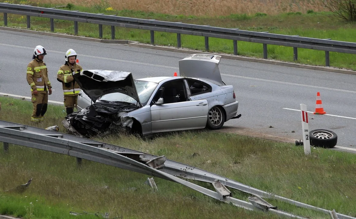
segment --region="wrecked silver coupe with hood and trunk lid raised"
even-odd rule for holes
[[[63,121],[89,137],[131,130],[141,136],[189,129],[220,129],[239,118],[234,87],[221,80],[221,56],[193,54],[179,61],[179,76],[134,80],[130,72],[83,70],[77,112]]]

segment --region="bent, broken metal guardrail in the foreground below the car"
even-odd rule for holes
[[[273,207],[261,198],[264,197],[274,198],[299,207],[317,210],[329,215],[335,215],[335,211],[332,212],[330,210],[280,197],[278,195],[273,195],[220,175],[210,173],[187,164],[169,160],[165,156],[157,157],[152,154],[112,144],[106,144],[87,138],[72,136],[70,134],[58,133],[56,131],[0,120],[0,142],[4,142],[5,151],[9,150],[8,144],[11,143],[49,152],[66,154],[77,157],[77,159],[87,159],[131,170],[137,173],[152,175],[154,177],[183,184],[200,193],[208,195],[211,198],[215,198],[226,203],[232,203],[237,207],[248,210],[263,209],[281,216],[303,218],[278,210],[276,207]],[[212,183],[216,191],[206,189],[181,178]],[[225,186],[255,195],[256,197],[249,197],[248,200],[250,202],[232,198],[231,192]],[[340,219],[356,219],[340,213],[336,213],[336,216]]]

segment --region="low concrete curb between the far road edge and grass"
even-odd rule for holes
[[[0,30],[8,30],[8,31],[16,31],[16,32],[24,32],[30,34],[38,34],[38,35],[45,35],[45,36],[54,36],[54,37],[62,37],[67,39],[74,39],[74,40],[84,40],[90,42],[101,42],[107,44],[128,44],[130,47],[138,47],[144,49],[154,49],[154,50],[161,50],[161,51],[169,51],[169,52],[179,52],[179,53],[186,53],[186,54],[194,54],[194,53],[210,53],[198,50],[187,50],[187,49],[179,49],[177,47],[168,47],[168,46],[156,46],[150,44],[142,44],[136,41],[131,40],[103,40],[103,39],[96,39],[90,37],[83,37],[83,36],[73,36],[67,34],[57,34],[52,32],[43,32],[43,31],[35,31],[35,30],[27,30],[27,29],[20,29],[20,28],[13,28],[13,27],[4,27],[0,26]],[[302,68],[308,70],[316,70],[316,71],[325,71],[325,72],[333,72],[333,73],[340,73],[340,74],[347,74],[347,75],[356,75],[356,71],[352,70],[344,70],[339,68],[332,68],[332,67],[323,67],[323,66],[312,66],[312,65],[302,65],[298,63],[290,63],[290,62],[282,62],[276,60],[268,60],[268,59],[261,59],[261,58],[250,58],[245,56],[235,56],[235,55],[224,55],[214,53],[216,55],[221,55],[222,58],[230,59],[230,60],[239,60],[239,61],[247,61],[247,62],[257,62],[269,65],[278,65],[278,66],[286,66],[286,67],[294,67],[294,68]]]

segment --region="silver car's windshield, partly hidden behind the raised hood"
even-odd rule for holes
[[[145,106],[150,99],[152,92],[156,89],[158,83],[150,81],[140,81],[134,80],[135,86],[137,89],[138,97],[143,106]],[[120,102],[129,102],[136,105],[137,101],[130,96],[127,96],[123,93],[108,93],[101,96],[98,100],[104,101],[120,101]]]

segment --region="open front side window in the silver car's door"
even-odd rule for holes
[[[155,104],[159,98],[163,98],[163,104],[187,101],[184,81],[174,80],[164,83],[158,89],[152,104]]]

